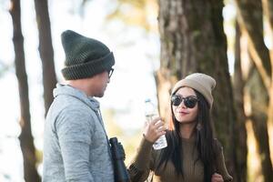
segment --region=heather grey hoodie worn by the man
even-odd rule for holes
[[[44,182],[113,182],[114,171],[99,103],[58,84],[45,121]]]

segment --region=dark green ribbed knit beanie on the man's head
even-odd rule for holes
[[[71,30],[66,30],[61,36],[66,54],[62,74],[66,80],[92,77],[110,70],[115,65],[113,53],[96,39]]]

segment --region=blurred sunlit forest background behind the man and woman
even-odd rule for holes
[[[234,181],[273,181],[272,0],[0,0],[0,181],[41,180],[45,113],[66,29],[101,40],[116,66],[100,98],[108,135],[136,154],[151,98],[193,72],[217,79],[214,132]]]

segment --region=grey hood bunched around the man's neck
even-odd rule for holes
[[[96,110],[99,109],[99,102],[93,96],[87,96],[85,92],[78,90],[75,87],[57,84],[56,88],[53,90],[53,96],[56,97],[60,95],[74,96],[91,108]]]

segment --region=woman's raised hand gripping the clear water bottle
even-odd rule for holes
[[[159,136],[166,134],[166,129],[167,127],[164,126],[164,122],[160,117],[157,117],[146,123],[143,134],[149,142],[155,143]]]

